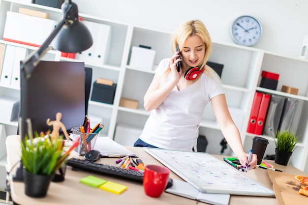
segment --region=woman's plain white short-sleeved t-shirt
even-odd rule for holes
[[[155,72],[163,76],[169,63],[170,59],[163,59]],[[196,145],[205,106],[223,93],[216,74],[211,78],[203,73],[195,83],[182,90],[175,86],[161,105],[152,110],[140,139],[160,148],[191,151]]]

